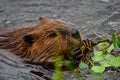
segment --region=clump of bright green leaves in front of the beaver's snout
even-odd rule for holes
[[[92,62],[98,65],[93,65],[91,70],[96,73],[103,73],[106,67],[120,67],[120,56],[115,57],[111,54],[112,50],[116,47],[120,47],[120,36],[112,35],[112,44],[108,47],[106,43],[98,45],[99,48],[107,47],[103,49],[94,49],[94,56],[92,57]]]

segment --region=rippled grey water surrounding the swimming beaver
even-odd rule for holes
[[[120,0],[0,0],[0,34],[34,25],[39,17],[64,20],[79,29],[83,37],[96,40],[120,32]],[[30,73],[33,66],[0,50],[0,80],[43,80],[52,76],[50,71],[39,68],[47,76]],[[72,72],[68,73],[65,80],[71,78]],[[120,80],[120,73],[111,75],[105,73],[104,80]]]

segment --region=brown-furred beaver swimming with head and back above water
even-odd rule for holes
[[[0,35],[0,48],[33,62],[54,62],[53,56],[69,56],[80,44],[81,36],[76,32],[63,21],[42,18],[36,26]]]

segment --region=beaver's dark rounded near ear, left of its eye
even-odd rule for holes
[[[27,46],[32,46],[32,44],[34,43],[34,37],[32,34],[25,35],[23,37],[23,40]]]

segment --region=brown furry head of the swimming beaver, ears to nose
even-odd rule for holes
[[[52,62],[55,55],[68,56],[79,45],[78,30],[60,20],[40,19],[40,23],[24,37],[25,58],[35,62]]]

